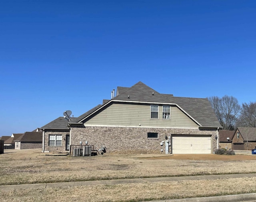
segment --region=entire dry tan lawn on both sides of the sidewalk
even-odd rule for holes
[[[40,149],[0,155],[0,184],[256,172],[256,155],[46,156]],[[1,191],[2,201],[142,201],[256,192],[256,178],[74,186]]]

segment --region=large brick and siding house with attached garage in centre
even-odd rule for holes
[[[72,119],[41,127],[42,152],[91,145],[108,153],[210,154],[221,128],[208,99],[161,94],[142,82],[118,87],[116,97]]]

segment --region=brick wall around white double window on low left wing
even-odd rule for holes
[[[62,135],[62,146],[49,146],[49,135]],[[44,132],[44,151],[64,152],[66,151],[66,135],[69,131],[45,131]]]

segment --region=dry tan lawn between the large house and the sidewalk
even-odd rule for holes
[[[256,172],[256,156],[247,155],[140,154],[74,157],[47,156],[40,149],[7,152],[0,155],[0,185]],[[188,156],[190,160],[187,160]],[[198,160],[203,156],[215,159]]]

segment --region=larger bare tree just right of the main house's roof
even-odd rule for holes
[[[238,100],[233,96],[225,95],[220,97],[208,97],[212,105],[220,125],[224,130],[234,130],[238,115],[240,112],[240,105]]]

